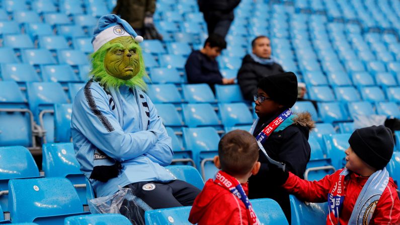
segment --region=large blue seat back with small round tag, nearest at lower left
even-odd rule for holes
[[[65,217],[88,214],[83,212],[81,201],[66,178],[11,180],[9,197],[13,222],[62,224]]]

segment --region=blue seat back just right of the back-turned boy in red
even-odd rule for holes
[[[289,224],[278,202],[270,198],[250,200],[262,224]]]

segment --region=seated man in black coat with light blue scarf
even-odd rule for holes
[[[281,65],[271,57],[271,43],[266,36],[252,41],[253,52],[243,58],[242,67],[237,72],[237,84],[246,100],[253,100],[257,84],[272,74],[284,72]]]

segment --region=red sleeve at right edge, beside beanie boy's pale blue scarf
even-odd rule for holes
[[[392,181],[380,196],[371,221],[371,224],[400,224],[400,200]]]

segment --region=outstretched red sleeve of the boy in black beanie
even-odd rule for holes
[[[332,183],[338,180],[342,170],[327,175],[319,181],[306,181],[289,172],[289,178],[282,186],[297,198],[308,202],[326,202],[328,193],[331,191]]]

